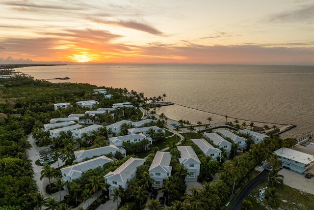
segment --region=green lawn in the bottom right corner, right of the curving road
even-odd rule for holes
[[[271,209],[267,204],[259,199],[259,189],[265,187],[265,183],[258,185],[247,198],[253,205],[254,210],[268,210]],[[314,195],[300,191],[283,185],[277,191],[282,200],[278,207],[283,210],[314,210]],[[284,200],[284,201],[283,201]]]

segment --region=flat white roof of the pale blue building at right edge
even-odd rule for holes
[[[314,162],[314,156],[311,154],[307,154],[301,151],[292,150],[288,148],[281,148],[279,150],[274,151],[275,154],[285,157],[300,163],[303,163],[305,165],[311,164]]]

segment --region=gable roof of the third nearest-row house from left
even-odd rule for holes
[[[171,153],[170,152],[163,152],[157,151],[154,157],[154,160],[149,168],[149,172],[164,172],[164,173],[171,173],[172,166],[170,166],[171,161]]]

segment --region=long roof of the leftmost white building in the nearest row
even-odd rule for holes
[[[72,166],[68,166],[60,169],[62,173],[65,173],[69,177],[74,177],[82,172],[88,171],[90,169],[95,169],[99,166],[103,166],[112,160],[106,156],[96,157]]]

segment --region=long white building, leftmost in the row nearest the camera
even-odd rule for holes
[[[95,169],[97,167],[103,168],[106,163],[112,160],[106,156],[96,157],[72,166],[60,169],[61,175],[65,181],[72,182],[73,180],[81,178],[86,171]]]

